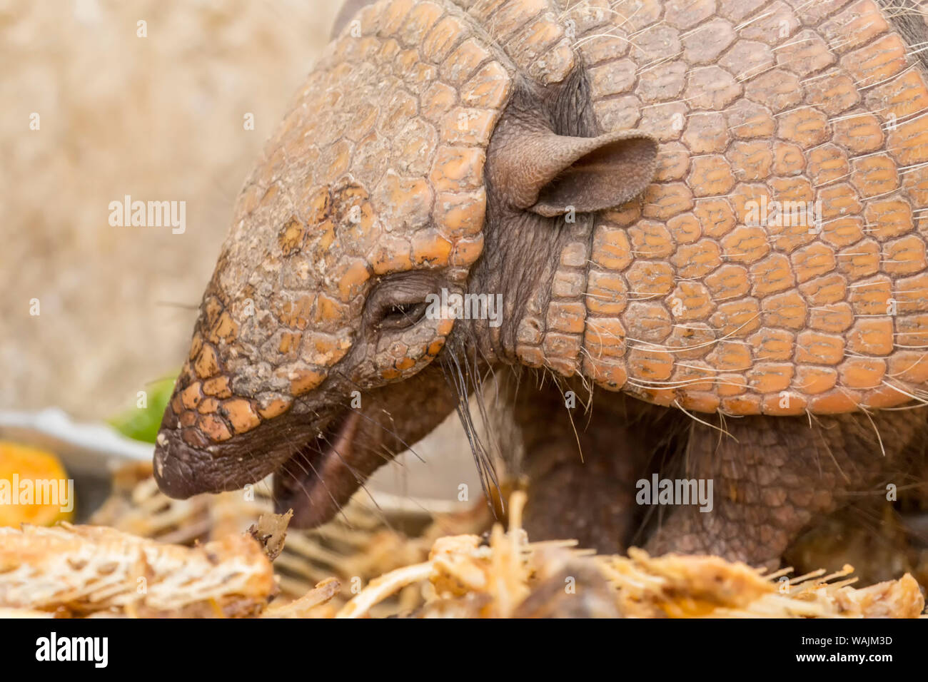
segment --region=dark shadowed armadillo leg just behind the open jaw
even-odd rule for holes
[[[652,423],[642,413],[655,408],[610,394],[598,396],[588,415],[582,406],[565,407],[557,389],[524,395],[515,416],[522,427],[529,537],[574,538],[580,547],[600,552],[623,550],[638,528],[635,481],[655,448],[651,441],[666,432],[642,426]],[[656,410],[665,420],[676,417]]]

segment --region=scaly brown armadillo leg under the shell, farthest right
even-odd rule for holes
[[[730,434],[694,424],[686,478],[711,479],[714,505],[664,508],[646,548],[776,565],[820,515],[886,486],[922,478],[925,419],[910,411],[728,419]]]

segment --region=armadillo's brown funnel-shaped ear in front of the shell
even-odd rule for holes
[[[494,151],[494,176],[517,208],[551,217],[634,199],[657,171],[657,140],[637,131],[599,137],[522,129]]]

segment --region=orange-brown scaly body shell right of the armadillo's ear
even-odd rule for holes
[[[659,171],[570,226],[555,285],[586,288],[552,286],[522,362],[699,412],[922,401],[928,87],[896,19],[873,0],[561,2],[600,128],[655,135]]]

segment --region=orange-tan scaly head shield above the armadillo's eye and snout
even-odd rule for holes
[[[352,351],[377,277],[466,279],[514,71],[476,28],[445,0],[381,0],[329,45],[238,199],[165,418],[187,445],[251,431],[322,385]],[[380,344],[356,385],[415,374],[452,327]]]

